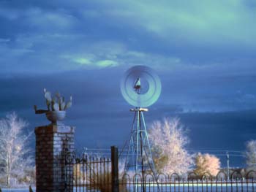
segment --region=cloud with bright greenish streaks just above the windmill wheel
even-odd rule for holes
[[[60,57],[89,69],[143,64],[159,70],[171,70],[182,63],[180,58],[129,50],[119,42],[94,42],[89,48],[81,47],[74,54],[68,53]]]

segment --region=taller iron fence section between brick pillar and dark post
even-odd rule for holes
[[[66,160],[67,185],[74,191],[111,191],[110,158],[97,158],[87,155],[69,155]]]

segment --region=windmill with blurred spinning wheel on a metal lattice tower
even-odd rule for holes
[[[149,172],[157,181],[151,146],[143,112],[146,107],[154,104],[161,93],[161,82],[158,75],[148,66],[133,66],[128,69],[121,80],[121,93],[124,99],[133,107],[132,131],[125,162],[124,174],[129,170],[140,174],[144,183],[145,175]],[[145,186],[145,185],[143,185]],[[143,189],[145,189],[143,187]]]

